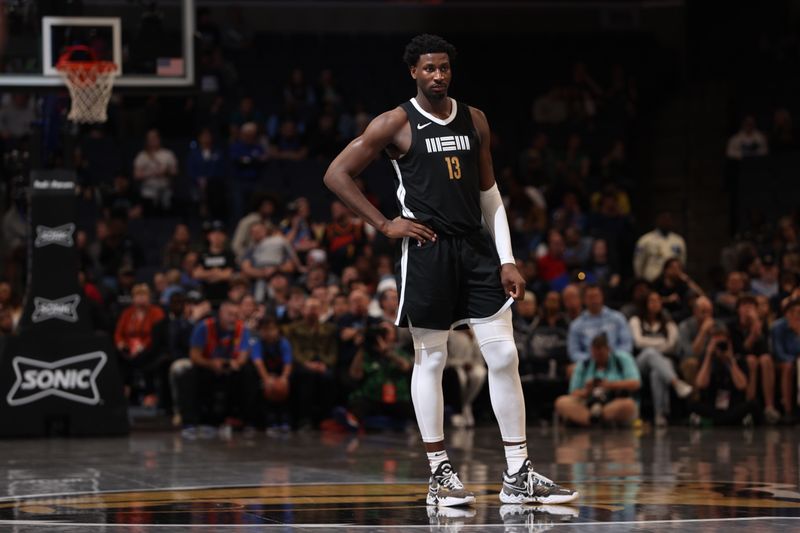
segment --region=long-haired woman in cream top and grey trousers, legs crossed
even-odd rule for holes
[[[670,412],[669,387],[675,389],[678,398],[686,398],[692,393],[692,386],[678,378],[669,358],[675,353],[678,326],[664,312],[657,292],[647,296],[645,307],[631,317],[629,324],[639,372],[642,376],[650,376],[655,425],[664,427]]]

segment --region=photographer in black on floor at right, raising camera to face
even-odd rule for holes
[[[747,375],[733,356],[733,344],[724,326],[714,326],[706,346],[695,387],[700,401],[689,405],[692,425],[702,418],[715,425],[753,423],[755,405],[745,397]]]

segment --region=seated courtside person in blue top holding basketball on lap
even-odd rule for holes
[[[292,375],[292,345],[281,334],[274,317],[268,317],[258,326],[261,359],[253,364],[261,378],[261,388],[267,400],[267,429],[289,430],[289,381]]]

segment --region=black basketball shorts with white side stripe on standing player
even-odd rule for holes
[[[447,330],[494,318],[511,305],[500,282],[497,250],[485,230],[439,234],[422,246],[406,237],[400,246],[396,325]]]

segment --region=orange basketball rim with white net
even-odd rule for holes
[[[76,52],[89,59],[73,60]],[[64,78],[72,100],[67,118],[81,123],[105,122],[117,65],[98,60],[88,46],[70,46],[58,58],[56,70]]]

